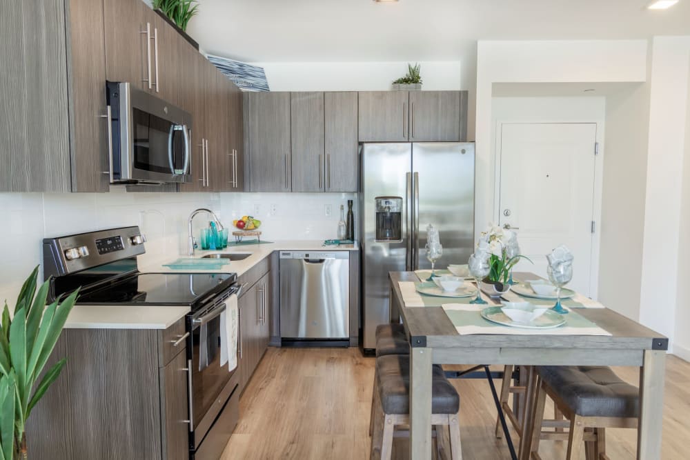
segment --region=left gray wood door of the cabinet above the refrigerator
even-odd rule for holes
[[[407,91],[359,92],[359,141],[407,141],[408,112]]]

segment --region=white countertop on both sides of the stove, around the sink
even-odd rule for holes
[[[186,255],[172,255],[157,261],[142,263],[139,261],[140,272],[160,273],[237,273],[237,276],[248,272],[257,263],[268,257],[273,251],[301,250],[301,251],[357,251],[357,243],[347,246],[323,246],[322,241],[287,240],[275,241],[266,244],[247,244],[242,246],[228,246],[224,250],[197,250],[195,259],[206,254],[225,253],[251,253],[249,257],[241,261],[228,261],[219,270],[174,270],[163,266],[176,259],[188,259]],[[67,318],[67,329],[166,329],[175,321],[184,317],[190,311],[189,307],[181,306],[75,306]]]

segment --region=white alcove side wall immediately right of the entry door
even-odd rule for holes
[[[639,83],[606,101],[598,298],[634,320],[640,318],[649,86]]]

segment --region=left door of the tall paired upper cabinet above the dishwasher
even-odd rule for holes
[[[324,93],[290,94],[290,139],[293,192],[323,192],[326,188]]]

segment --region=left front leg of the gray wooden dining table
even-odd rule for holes
[[[410,348],[410,457],[431,460],[431,348]]]

